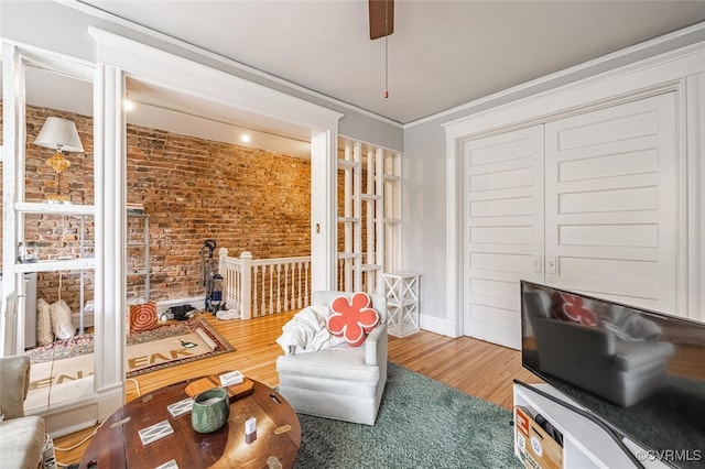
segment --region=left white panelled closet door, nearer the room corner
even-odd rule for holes
[[[464,143],[466,336],[520,347],[519,281],[541,281],[543,126]]]

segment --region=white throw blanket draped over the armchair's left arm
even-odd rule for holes
[[[330,309],[325,305],[307,306],[296,313],[282,327],[282,335],[276,343],[285,353],[301,353],[323,350],[345,342],[343,337],[336,337],[326,327]]]

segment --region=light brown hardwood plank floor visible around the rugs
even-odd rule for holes
[[[290,312],[251,320],[225,321],[205,315],[237,351],[128,380],[126,402],[166,384],[226,370],[240,370],[249,378],[271,388],[276,386],[279,377],[275,362],[283,351],[275,340],[281,335],[282,326],[293,314],[294,312]],[[401,339],[390,336],[389,361],[506,408],[511,408],[512,405],[513,379],[528,383],[541,382],[522,369],[521,356],[517,350],[469,337],[453,339],[424,330]],[[87,428],[55,439],[58,461],[78,462],[88,441],[73,447],[90,436],[94,428]]]

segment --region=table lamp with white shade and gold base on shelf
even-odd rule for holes
[[[70,166],[70,162],[64,156],[64,152],[83,152],[76,124],[67,119],[57,117],[46,118],[44,127],[34,140],[35,145],[55,150],[56,153],[46,160],[46,164],[52,166],[56,173],[56,194],[46,196],[48,204],[70,204],[67,195],[61,194],[61,174]]]

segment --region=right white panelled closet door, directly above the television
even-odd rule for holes
[[[546,283],[675,313],[676,101],[545,127]]]

